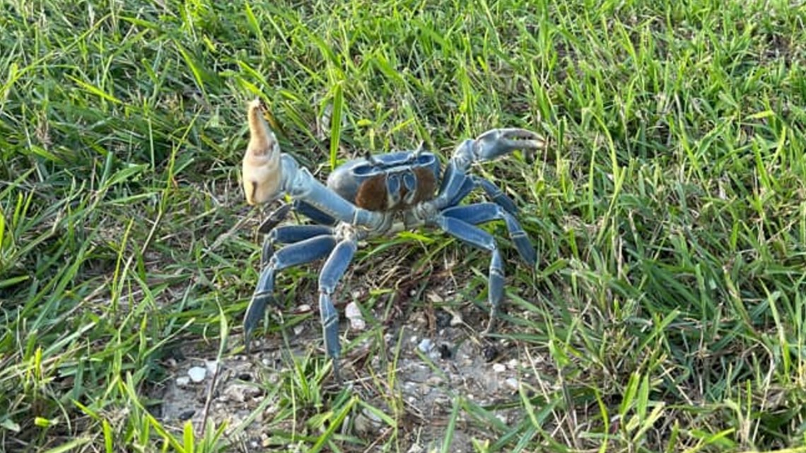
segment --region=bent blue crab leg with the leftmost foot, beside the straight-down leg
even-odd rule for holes
[[[268,264],[260,272],[257,288],[255,293],[252,294],[247,314],[243,317],[243,336],[247,354],[249,353],[252,331],[255,330],[257,323],[263,318],[268,302],[274,299],[275,273],[290,266],[318,260],[333,250],[335,244],[336,238],[333,235],[316,236],[280,248],[268,260]]]

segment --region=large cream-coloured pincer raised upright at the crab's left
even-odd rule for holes
[[[249,145],[243,156],[243,193],[247,203],[272,202],[280,195],[283,180],[280,145],[263,118],[260,100],[249,104]]]

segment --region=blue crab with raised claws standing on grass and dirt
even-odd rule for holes
[[[291,266],[326,258],[318,277],[319,314],[326,354],[339,377],[339,314],[333,294],[359,241],[420,226],[436,227],[492,256],[489,264],[488,303],[492,328],[504,297],[504,263],[495,238],[477,225],[503,220],[521,259],[534,267],[537,254],[515,218],[517,207],[505,193],[482,177],[468,174],[471,165],[515,150],[532,152],[545,147],[537,134],[524,129],[493,129],[459,144],[441,172],[433,152],[422,144],[413,151],[367,154],[335,168],[326,185],[316,180],[297,160],[280,152],[268,127],[260,100],[247,110],[250,139],[243,157],[243,189],[250,205],[276,201],[287,195],[293,202],[272,213],[260,226],[266,233],[262,271],[243,318],[244,342],[274,301],[276,273]],[[483,189],[492,202],[459,205],[474,189]],[[313,223],[280,225],[290,210]],[[282,245],[274,250],[275,245]]]

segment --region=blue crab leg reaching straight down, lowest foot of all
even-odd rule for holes
[[[333,360],[333,375],[336,380],[341,380],[339,355],[342,347],[339,343],[339,313],[330,297],[355,256],[356,248],[355,239],[340,241],[322,266],[322,272],[319,273],[319,314],[322,317],[322,336],[325,339],[325,351]]]

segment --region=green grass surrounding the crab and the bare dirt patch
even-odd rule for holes
[[[804,6],[329,5],[0,5],[0,446],[239,451],[221,426],[160,422],[147,390],[185,343],[239,351],[260,241],[238,172],[260,97],[322,178],[361,150],[449,156],[492,127],[550,140],[477,171],[540,256],[508,262],[502,335],[554,386],[523,389],[509,425],[457,399],[442,451],[467,423],[492,433],[476,451],[806,451]],[[461,246],[422,235],[394,252],[444,271]],[[389,253],[369,245],[368,269]],[[488,257],[463,260],[483,304]],[[285,275],[289,299],[315,293],[315,269]],[[364,451],[376,439],[345,434],[348,414],[397,426],[394,397],[315,388],[324,364],[264,384],[284,417],[306,408],[278,437]]]

